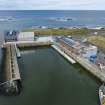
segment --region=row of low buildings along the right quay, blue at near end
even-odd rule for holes
[[[57,37],[56,41],[67,50],[71,51],[71,53],[81,55],[93,63],[96,62],[98,52],[98,48],[96,46],[81,43],[72,37]]]

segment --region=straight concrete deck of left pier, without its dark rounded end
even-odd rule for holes
[[[20,80],[19,67],[16,57],[15,46],[10,45],[5,49],[5,68],[4,68],[4,80],[14,81]]]

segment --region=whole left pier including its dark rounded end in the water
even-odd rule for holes
[[[20,92],[21,76],[17,62],[15,45],[5,48],[5,64],[4,64],[4,82],[3,86],[5,94],[17,94]]]

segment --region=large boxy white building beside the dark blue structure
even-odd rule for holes
[[[17,35],[18,41],[34,41],[34,32],[20,32]]]

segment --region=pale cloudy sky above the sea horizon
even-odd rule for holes
[[[0,10],[105,10],[105,0],[0,0]]]

